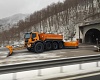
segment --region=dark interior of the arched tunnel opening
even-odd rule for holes
[[[90,29],[85,34],[85,43],[96,44],[100,41],[100,31],[98,29]]]

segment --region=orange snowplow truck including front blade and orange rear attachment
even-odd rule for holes
[[[31,32],[25,33],[24,35],[24,48],[27,48],[28,51],[35,53],[42,53],[44,50],[56,50],[62,49],[64,47],[78,47],[78,41],[63,42],[63,35],[59,34],[46,34]],[[21,48],[13,48],[12,46],[6,46],[9,49],[10,56],[13,53],[13,50],[19,50]]]

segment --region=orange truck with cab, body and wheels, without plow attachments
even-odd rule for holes
[[[45,34],[34,32],[26,33],[25,36],[25,47],[29,51],[41,53],[45,50],[63,48],[63,36],[56,34]]]

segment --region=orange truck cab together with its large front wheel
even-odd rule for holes
[[[24,35],[25,44],[24,46],[28,51],[41,53],[44,50],[44,46],[41,42],[39,42],[39,33],[38,32],[30,32],[25,33]]]

